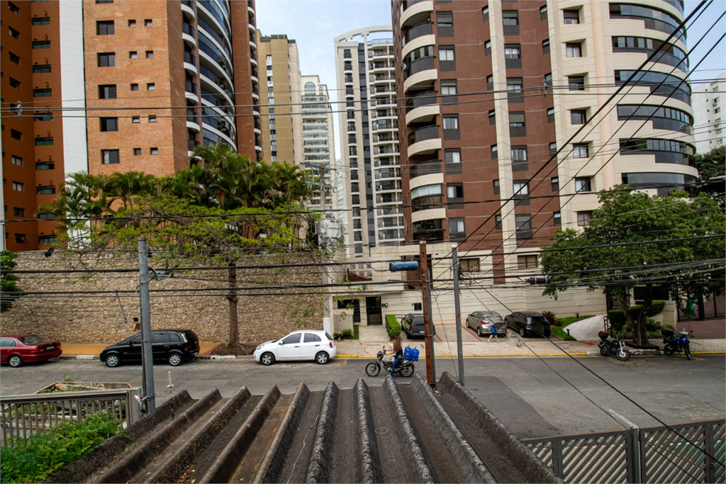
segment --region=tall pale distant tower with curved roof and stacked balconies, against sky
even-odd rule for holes
[[[348,255],[404,242],[399,120],[391,28],[379,25],[335,37],[340,139],[346,180]],[[383,37],[383,38],[381,38]],[[345,104],[343,104],[343,102]]]

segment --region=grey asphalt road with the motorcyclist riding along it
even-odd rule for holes
[[[370,361],[335,359],[325,366],[267,367],[240,358],[195,360],[176,368],[157,365],[157,403],[168,398],[169,371],[174,392],[187,390],[192,398],[201,398],[213,388],[232,396],[242,386],[259,395],[272,385],[282,393],[294,393],[300,382],[312,391],[324,390],[330,381],[341,389],[351,388],[359,377],[368,385],[381,385],[383,374],[371,378],[364,372]],[[656,419],[666,424],[724,419],[725,361],[723,355],[698,356],[692,361],[679,356],[634,356],[624,363],[600,356],[465,358],[465,386],[519,438],[622,430],[629,422],[655,427]],[[436,371],[456,376],[455,363],[455,359],[439,358]],[[423,360],[416,371],[425,373]],[[97,360],[61,360],[20,369],[2,366],[0,395],[33,393],[66,375],[75,381],[141,385],[141,366],[110,369]],[[403,377],[396,380],[407,382]]]

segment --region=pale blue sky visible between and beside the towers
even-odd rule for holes
[[[605,0],[593,0],[605,1]],[[688,15],[698,6],[698,0],[685,0]],[[726,1],[715,0],[688,29],[688,46],[692,48],[711,24],[726,10]],[[337,101],[335,81],[335,48],[333,38],[349,30],[372,25],[391,24],[390,0],[257,0],[257,27],[266,35],[287,34],[298,44],[300,70],[303,75],[317,74],[326,83],[328,91]],[[726,32],[726,17],[711,29],[701,44],[690,54],[690,65],[695,66],[715,41]],[[641,32],[642,33],[642,32]],[[714,49],[706,60],[691,73],[698,81],[714,78],[726,70],[726,40]],[[335,105],[333,107],[335,110]],[[340,158],[338,118],[335,118],[335,151]]]

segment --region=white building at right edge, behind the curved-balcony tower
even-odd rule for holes
[[[726,145],[724,125],[726,124],[726,72],[710,83],[700,84],[693,89],[693,115],[697,126],[696,152],[706,153]]]

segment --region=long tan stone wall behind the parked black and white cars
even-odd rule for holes
[[[259,287],[240,291],[237,308],[240,341],[264,341],[282,337],[293,329],[322,329],[322,298],[318,295],[245,295],[250,292],[274,293],[274,287],[292,284],[319,284],[322,275],[314,267],[271,268],[274,264],[314,263],[307,254],[259,255],[245,258],[238,266],[263,268],[237,269],[238,287]],[[21,253],[17,270],[63,270],[133,268],[139,266],[135,253],[106,254],[98,257],[56,252],[45,258],[42,252]],[[150,266],[160,261],[150,258]],[[182,262],[182,266],[195,266]],[[81,292],[66,295],[25,295],[12,309],[3,313],[3,334],[36,333],[64,343],[114,343],[132,334],[133,317],[139,316],[137,272],[86,274],[19,274],[25,292]],[[190,328],[200,340],[221,343],[229,335],[229,305],[222,291],[227,287],[227,270],[175,272],[150,281],[151,325],[153,329]],[[154,292],[155,290],[184,290]],[[197,292],[190,292],[197,290]],[[199,291],[202,290],[202,291]],[[124,324],[119,296],[128,322]],[[121,291],[132,291],[124,293]],[[83,294],[83,292],[86,292]],[[314,292],[301,289],[299,292]]]

